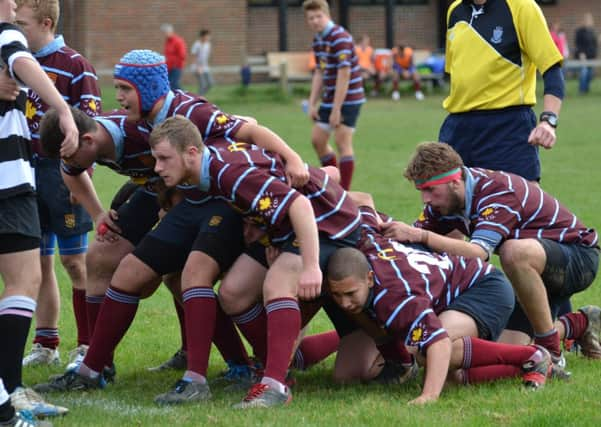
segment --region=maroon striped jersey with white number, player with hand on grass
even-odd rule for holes
[[[391,335],[424,351],[448,336],[438,314],[494,267],[479,258],[441,255],[385,238],[374,231],[370,210],[361,208],[358,245],[375,279],[367,311]]]

